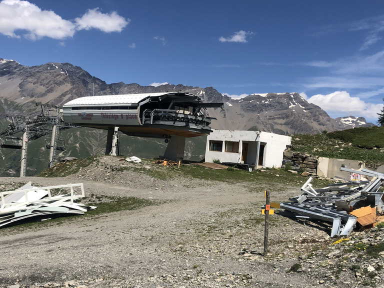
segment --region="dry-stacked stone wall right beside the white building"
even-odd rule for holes
[[[281,167],[286,168],[287,166],[290,166],[289,169],[292,171],[305,171],[308,175],[316,175],[317,162],[316,156],[302,152],[293,152],[286,149],[284,151]]]

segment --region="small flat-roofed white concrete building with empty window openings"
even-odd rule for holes
[[[260,167],[281,167],[283,151],[291,137],[269,132],[213,130],[206,140],[205,161],[215,159]]]

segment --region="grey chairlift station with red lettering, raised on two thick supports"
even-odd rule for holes
[[[182,160],[186,137],[207,135],[211,118],[200,96],[186,92],[85,96],[63,105],[64,122],[108,131],[105,152],[116,154],[118,131],[130,136],[158,137],[168,142],[164,158]]]

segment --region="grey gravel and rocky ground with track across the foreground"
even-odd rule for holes
[[[383,228],[330,238],[330,226],[276,210],[262,256],[265,183],[159,180],[121,169],[129,165],[152,169],[102,157],[67,177],[0,178],[1,190],[27,181],[82,182],[88,196],[156,201],[95,217],[1,228],[0,287],[384,287]],[[298,183],[274,187],[272,201],[300,194]]]

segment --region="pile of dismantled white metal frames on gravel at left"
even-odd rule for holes
[[[59,194],[64,192],[64,194]],[[57,195],[56,195],[57,194]],[[88,206],[76,201],[84,197],[82,183],[33,187],[30,182],[13,191],[0,192],[0,226],[59,215],[84,214]]]

